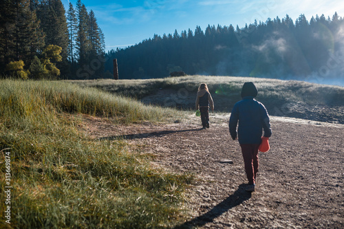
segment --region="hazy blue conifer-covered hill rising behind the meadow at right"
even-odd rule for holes
[[[186,74],[264,76],[270,78],[343,78],[344,19],[301,14],[233,25],[197,26],[174,34],[155,34],[125,49],[111,50],[105,71],[118,59],[120,78],[159,78]]]

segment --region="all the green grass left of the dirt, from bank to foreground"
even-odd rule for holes
[[[159,121],[175,110],[144,106],[63,82],[1,80],[0,186],[6,152],[11,224],[0,228],[158,228],[177,220],[189,177],[149,168],[124,142],[92,140],[80,114],[115,122]],[[6,194],[0,193],[4,212]]]

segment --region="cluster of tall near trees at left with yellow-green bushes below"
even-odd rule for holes
[[[97,78],[104,56],[104,34],[80,0],[67,12],[61,0],[0,1],[2,77]]]

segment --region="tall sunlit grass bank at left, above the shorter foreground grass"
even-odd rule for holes
[[[124,123],[166,120],[175,115],[172,109],[144,106],[137,100],[62,81],[1,80],[1,88],[3,106],[17,106],[7,110],[23,114],[43,112],[44,115],[47,109],[54,109],[56,113],[87,113]]]

